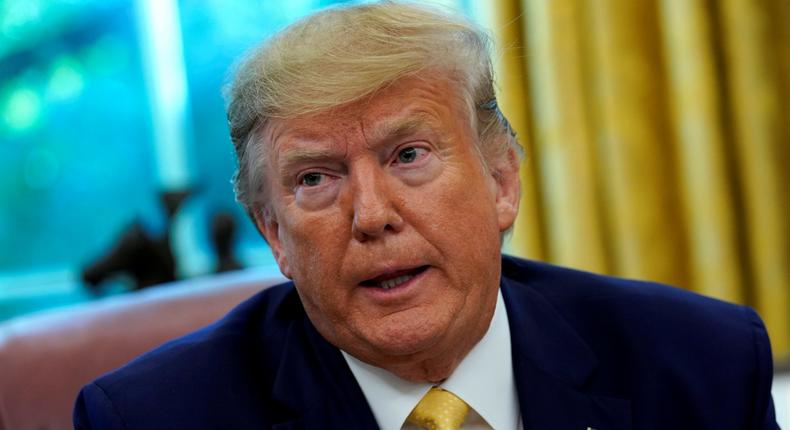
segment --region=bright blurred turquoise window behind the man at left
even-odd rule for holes
[[[256,42],[338,2],[0,3],[0,320],[128,290],[82,278],[130,232],[169,238],[178,277],[211,273],[218,214],[241,265],[273,265],[234,201],[220,88]],[[184,191],[168,221],[163,193]]]

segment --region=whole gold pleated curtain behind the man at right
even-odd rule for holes
[[[755,307],[790,356],[790,2],[493,0],[511,253]]]

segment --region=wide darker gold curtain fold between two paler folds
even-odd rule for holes
[[[596,128],[612,272],[688,283],[688,255],[667,115],[654,2],[585,2]],[[650,7],[647,7],[650,5]]]

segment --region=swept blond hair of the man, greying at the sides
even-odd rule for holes
[[[226,90],[236,199],[251,215],[265,204],[260,131],[268,119],[350,103],[425,69],[457,82],[486,164],[511,149],[520,155],[496,105],[489,45],[461,16],[399,1],[325,9],[280,31],[239,63]]]

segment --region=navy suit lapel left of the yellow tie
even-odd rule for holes
[[[342,354],[306,316],[291,324],[280,363],[272,394],[291,414],[273,428],[377,428]]]

